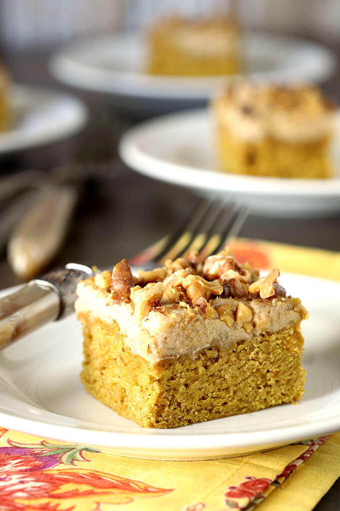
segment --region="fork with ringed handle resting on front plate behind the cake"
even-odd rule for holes
[[[177,233],[152,244],[129,262],[155,266],[190,250],[197,250],[203,261],[236,236],[247,214],[248,208],[239,203],[204,199]],[[43,324],[70,314],[77,284],[91,275],[90,267],[69,263],[0,299],[0,349]]]

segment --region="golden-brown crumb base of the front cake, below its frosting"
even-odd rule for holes
[[[113,321],[80,313],[84,333],[81,380],[97,400],[143,427],[172,428],[298,401],[305,371],[300,326],[209,347],[194,358],[149,366],[131,353]]]

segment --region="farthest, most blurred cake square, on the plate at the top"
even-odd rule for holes
[[[161,20],[148,33],[147,72],[218,76],[239,73],[240,29],[230,18]]]

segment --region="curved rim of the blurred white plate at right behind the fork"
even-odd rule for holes
[[[140,141],[150,137],[152,132],[169,129],[173,125],[182,125],[185,122],[194,124],[195,120],[202,122],[204,119],[207,123],[210,122],[209,108],[167,113],[143,121],[129,128],[123,134],[118,145],[119,155],[126,165],[141,174],[196,189],[213,191],[218,188],[225,192],[240,192],[244,195],[256,193],[264,196],[337,197],[340,195],[340,177],[320,180],[233,175],[217,170],[175,164],[166,159],[149,155],[138,147]],[[337,112],[337,124],[340,126],[340,109]],[[159,173],[160,167],[165,169],[162,177]],[[177,171],[176,174],[173,172],[174,169]],[[214,179],[211,179],[212,177]],[[216,181],[219,186],[213,184]]]

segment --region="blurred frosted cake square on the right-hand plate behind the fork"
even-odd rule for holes
[[[221,170],[330,177],[334,110],[316,87],[230,83],[213,100]]]

